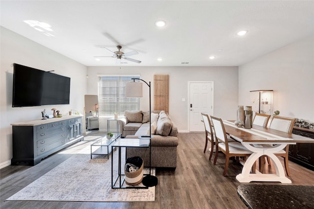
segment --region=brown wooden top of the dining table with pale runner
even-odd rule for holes
[[[234,121],[229,121],[229,122],[234,122]],[[278,130],[274,130],[274,129],[270,129],[270,128],[266,128],[262,126],[253,125],[253,129],[247,129],[248,131],[250,131],[250,132],[247,132],[245,131],[244,128],[234,127],[233,126],[234,124],[228,125],[228,123],[224,123],[224,125],[225,125],[225,130],[227,134],[229,134],[230,136],[233,136],[234,138],[241,139],[242,142],[252,142],[252,143],[269,142],[270,144],[278,143],[278,142],[293,143],[293,144],[294,143],[314,143],[314,139],[311,139],[305,136],[300,136],[293,133],[287,133],[284,131],[278,131]],[[257,131],[258,134],[261,134],[261,131],[262,131],[265,133],[270,133],[276,136],[287,138],[287,140],[284,140],[283,138],[276,139],[275,137],[266,138],[266,137],[262,137],[260,135],[251,133],[251,131],[255,131],[255,130],[260,131],[260,132]]]

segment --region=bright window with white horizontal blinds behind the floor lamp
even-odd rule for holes
[[[139,110],[139,98],[126,98],[126,83],[139,75],[98,76],[99,115],[123,114],[124,110]],[[135,80],[136,82],[136,80]]]

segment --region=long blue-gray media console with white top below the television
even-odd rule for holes
[[[13,158],[11,165],[36,165],[49,155],[84,140],[82,116],[13,123]]]

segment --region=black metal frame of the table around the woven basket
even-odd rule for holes
[[[150,146],[150,145],[149,145]],[[140,148],[149,148],[149,146],[138,146]],[[118,162],[118,176],[113,182],[113,155],[111,155],[111,188],[112,189],[148,189],[148,186],[122,186],[123,183],[125,182],[125,174],[121,172],[121,148],[125,147],[126,149],[128,147],[134,147],[134,146],[114,146],[114,144],[111,146],[111,153],[113,152],[113,147],[117,148],[118,147],[118,152],[119,152],[119,162]],[[126,150],[126,157],[127,158],[127,150]],[[123,169],[124,170],[124,169]],[[147,176],[150,174],[144,174],[144,176]],[[123,179],[122,179],[123,177]],[[119,186],[114,186],[119,179]],[[121,181],[122,180],[122,181]]]

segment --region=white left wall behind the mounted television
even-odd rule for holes
[[[3,165],[10,163],[12,158],[11,123],[41,119],[41,111],[46,109],[46,112],[51,114],[53,107],[60,110],[61,114],[66,114],[71,109],[76,109],[80,113],[83,113],[87,67],[4,27],[0,29],[0,167],[3,167]],[[44,71],[54,70],[56,74],[70,77],[70,104],[13,108],[12,63]]]

